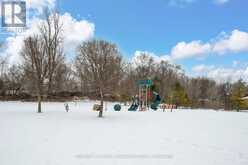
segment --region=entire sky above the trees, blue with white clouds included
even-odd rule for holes
[[[248,82],[246,0],[26,0],[28,29],[3,34],[2,56],[11,63],[25,36],[35,33],[44,8],[57,8],[64,22],[67,56],[92,39],[116,43],[127,60],[142,52],[179,64],[189,76]]]

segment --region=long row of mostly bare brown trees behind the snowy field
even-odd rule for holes
[[[39,34],[25,39],[19,64],[0,59],[1,100],[63,101],[89,97],[130,101],[138,93],[137,81],[152,79],[152,89],[164,103],[191,108],[247,109],[243,99],[247,84],[216,83],[214,80],[185,75],[183,69],[167,61],[155,61],[141,53],[125,61],[117,45],[90,40],[78,45],[73,61],[68,62],[63,47],[63,24],[56,13],[47,15]],[[40,104],[39,104],[39,109]]]

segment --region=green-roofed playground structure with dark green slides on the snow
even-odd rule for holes
[[[149,110],[149,108],[153,110],[158,109],[161,98],[157,92],[151,90],[152,85],[153,82],[150,79],[138,81],[139,93],[133,97],[133,103],[128,111],[137,111],[138,109],[139,111],[146,111]],[[152,95],[153,100],[151,100]]]

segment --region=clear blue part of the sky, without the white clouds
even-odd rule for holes
[[[95,37],[117,43],[126,56],[136,50],[168,54],[180,41],[207,42],[221,32],[248,30],[248,1],[230,0],[224,4],[195,0],[172,5],[168,0],[89,0],[59,1],[62,11],[85,18],[96,26]],[[228,66],[234,60],[247,60],[244,53],[199,59],[178,60],[185,69],[198,63]]]

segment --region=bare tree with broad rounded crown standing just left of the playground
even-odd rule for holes
[[[122,57],[116,45],[103,40],[84,42],[76,59],[81,76],[87,80],[101,97],[99,117],[103,116],[104,95],[119,84]]]

